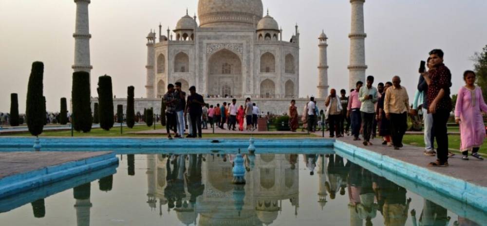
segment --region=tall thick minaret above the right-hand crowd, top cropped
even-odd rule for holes
[[[365,0],[350,0],[352,4],[352,31],[350,38],[349,88],[355,88],[357,81],[365,82],[365,34],[364,3]]]

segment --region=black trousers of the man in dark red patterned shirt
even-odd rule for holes
[[[448,161],[448,118],[450,118],[450,112],[446,110],[437,110],[433,114],[434,138],[437,144],[436,153],[441,163]]]

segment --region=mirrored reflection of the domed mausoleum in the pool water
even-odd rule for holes
[[[174,208],[186,224],[269,225],[282,202],[299,208],[297,155],[245,156],[245,186],[232,185],[233,155],[148,156],[149,205]],[[175,171],[174,171],[175,170]],[[199,221],[196,222],[199,216]]]

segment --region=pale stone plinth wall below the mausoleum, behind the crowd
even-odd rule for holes
[[[244,105],[245,98],[236,98],[237,104]],[[309,102],[307,98],[298,98],[296,100],[296,106],[298,107],[298,114],[302,114],[304,105]],[[92,99],[92,111],[94,109],[94,103],[97,103],[98,99]],[[210,105],[216,104],[223,104],[231,103],[232,98],[205,98],[205,102]],[[267,112],[275,115],[282,115],[284,113],[287,114],[287,109],[291,103],[291,99],[289,98],[258,98],[253,99],[253,103],[257,104],[259,107],[261,114],[265,115]],[[154,108],[154,114],[161,114],[161,99],[149,99],[149,98],[137,98],[134,100],[135,112],[140,112],[141,114],[144,112],[144,108]],[[117,111],[117,105],[122,104],[124,108],[124,112],[127,109],[127,98],[117,98],[113,99],[113,112]],[[317,99],[318,109],[324,108],[324,99]]]

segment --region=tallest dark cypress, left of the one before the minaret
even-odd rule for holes
[[[38,61],[32,63],[29,85],[27,87],[25,111],[27,126],[29,127],[29,132],[32,136],[39,136],[44,128],[44,122],[46,122],[46,102],[42,95],[44,89],[42,83],[43,78],[44,64]]]

